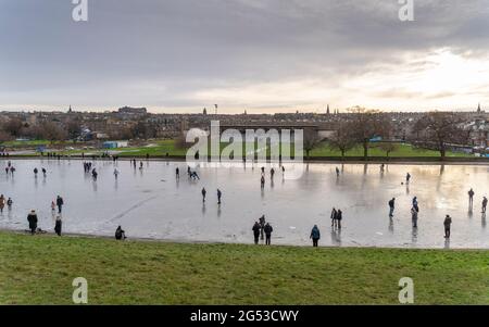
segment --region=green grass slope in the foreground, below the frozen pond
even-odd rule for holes
[[[489,304],[489,251],[115,241],[0,231],[0,304]]]

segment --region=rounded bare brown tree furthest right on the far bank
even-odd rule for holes
[[[468,130],[461,126],[462,120],[453,113],[430,112],[416,122],[416,146],[440,152],[444,160],[450,144],[466,144]]]

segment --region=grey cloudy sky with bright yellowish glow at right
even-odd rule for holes
[[[489,1],[0,0],[0,110],[489,108]]]

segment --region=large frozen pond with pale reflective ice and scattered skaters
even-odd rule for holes
[[[77,160],[17,160],[12,164],[16,168],[13,177],[0,171],[0,193],[14,201],[12,210],[5,207],[0,215],[0,228],[26,229],[27,213],[36,209],[39,227],[52,231],[50,204],[61,194],[64,232],[113,236],[122,225],[129,238],[252,243],[251,227],[265,214],[276,244],[310,246],[311,228],[317,224],[319,246],[489,249],[486,217],[480,212],[489,186],[487,165],[397,164],[380,174],[378,164],[310,164],[298,180],[283,179],[276,168],[273,185],[267,171],[261,191],[260,168],[251,165],[199,167],[201,179],[191,181],[183,162],[145,161],[139,171],[120,161],[116,180],[114,163],[97,161],[99,178],[93,181]],[[5,166],[7,161],[0,161],[0,168]],[[342,169],[338,178],[337,166]],[[41,173],[35,178],[35,167],[46,167],[47,178]],[[413,176],[409,187],[401,185],[406,172]],[[205,205],[202,187],[208,190]],[[471,187],[476,193],[473,213],[467,200]],[[223,191],[221,205],[216,188]],[[415,196],[421,209],[417,230],[411,226],[410,213]],[[390,219],[387,202],[392,197],[397,207]],[[343,212],[340,232],[330,227],[333,206]],[[450,243],[443,238],[446,214],[453,218]]]

